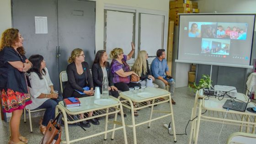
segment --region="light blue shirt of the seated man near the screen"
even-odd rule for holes
[[[166,59],[160,61],[158,57],[156,57],[150,65],[150,70],[155,78],[158,78],[159,76],[164,77],[165,71],[169,71]]]

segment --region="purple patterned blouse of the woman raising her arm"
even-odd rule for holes
[[[116,73],[116,71],[120,69],[123,69],[124,72],[131,71],[129,65],[126,63],[126,60],[127,60],[127,55],[123,55],[123,59],[122,59],[123,64],[120,64],[116,59],[112,59],[111,72],[113,74],[113,83],[119,83],[119,82],[123,82],[126,84],[130,83],[130,80],[131,80],[130,75],[127,77],[121,77]]]

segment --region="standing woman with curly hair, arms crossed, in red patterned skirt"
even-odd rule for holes
[[[18,29],[10,28],[2,33],[0,41],[0,96],[3,112],[11,113],[8,144],[27,144],[28,139],[19,132],[23,108],[31,104],[25,72],[32,67],[26,60],[23,37]],[[21,53],[23,52],[23,53]]]

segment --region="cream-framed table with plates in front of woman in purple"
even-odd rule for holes
[[[142,93],[141,89],[139,89],[139,93],[133,93],[131,91],[124,91],[120,93],[120,96],[118,97],[118,99],[121,99],[122,105],[123,107],[126,107],[128,109],[131,110],[132,114],[132,125],[126,125],[127,127],[133,128],[133,143],[137,144],[137,139],[136,139],[136,126],[145,124],[145,123],[149,123],[148,128],[150,128],[150,123],[152,121],[158,120],[160,118],[163,117],[167,117],[170,116],[171,117],[171,123],[172,123],[172,131],[173,131],[173,137],[174,137],[174,142],[176,142],[176,133],[175,133],[175,124],[174,124],[174,116],[173,116],[173,110],[172,110],[172,104],[171,104],[171,94],[169,91],[165,91],[163,89],[158,89],[158,88],[152,88],[152,87],[147,87],[145,88],[145,90],[143,91],[144,94],[148,93],[148,95],[144,95],[144,96],[138,96]],[[123,99],[123,100],[122,100]],[[155,102],[155,100],[157,100]],[[147,105],[146,101],[152,101],[152,104]],[[133,102],[136,102],[139,104],[138,108],[134,108],[133,107]],[[170,110],[169,111],[160,111],[160,110],[154,110],[154,105],[159,105],[162,103],[168,102],[170,105]],[[149,120],[144,121],[142,123],[137,123],[135,124],[135,118],[134,118],[134,110],[139,110],[139,109],[143,109],[146,107],[150,107],[151,106],[151,112],[149,115]],[[153,112],[157,112],[157,113],[164,113],[164,115],[160,116],[160,117],[156,117],[152,119],[152,114]],[[139,117],[138,117],[139,118]]]

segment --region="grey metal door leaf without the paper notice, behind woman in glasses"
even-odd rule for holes
[[[91,69],[95,56],[95,1],[58,0],[59,70],[66,70],[70,53],[83,49]]]

